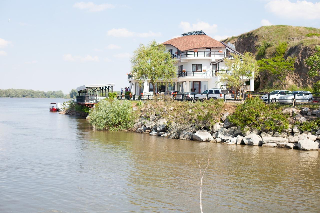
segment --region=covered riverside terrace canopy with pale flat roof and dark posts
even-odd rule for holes
[[[77,87],[78,96],[84,95],[99,95],[106,96],[107,90],[108,93],[113,92],[114,83],[105,83],[105,84],[85,84],[80,87]]]

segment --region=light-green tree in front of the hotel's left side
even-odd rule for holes
[[[163,44],[157,44],[155,40],[148,45],[140,44],[139,48],[134,51],[131,59],[131,72],[136,79],[148,79],[153,85],[153,94],[156,94],[156,83],[163,84],[171,82],[177,75],[177,67],[175,59],[171,58],[171,54],[165,51]]]

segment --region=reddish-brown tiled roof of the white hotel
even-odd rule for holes
[[[172,38],[163,44],[170,44],[180,51],[187,51],[196,48],[224,47],[224,45],[208,35],[186,35]]]

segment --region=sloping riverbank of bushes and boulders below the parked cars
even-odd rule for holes
[[[283,108],[259,98],[234,105],[222,100],[105,99],[89,113],[99,130],[131,130],[180,140],[318,150],[320,109]]]

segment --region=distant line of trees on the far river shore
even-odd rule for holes
[[[59,91],[39,91],[39,90],[24,90],[24,89],[0,89],[0,97],[9,98],[70,98],[70,94],[63,94]]]

